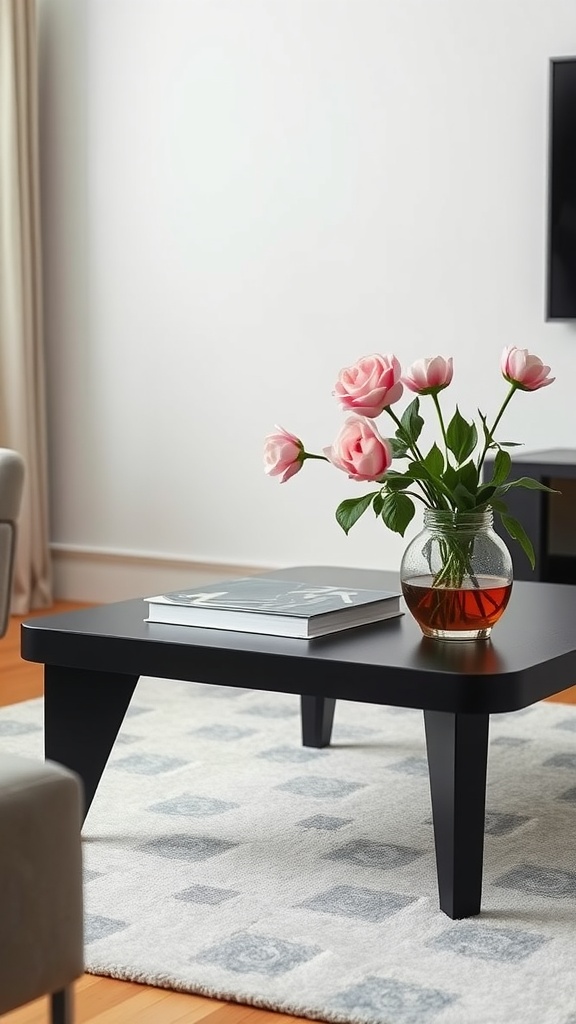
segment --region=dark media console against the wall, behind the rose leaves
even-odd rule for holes
[[[491,464],[484,478],[492,475]],[[524,526],[536,552],[536,567],[520,545],[502,529],[495,516],[496,531],[505,541],[513,563],[515,580],[576,584],[576,449],[550,449],[512,456],[509,480],[531,476],[561,494],[512,487],[506,495],[510,515]]]

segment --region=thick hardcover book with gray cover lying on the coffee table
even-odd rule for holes
[[[310,640],[400,615],[401,594],[240,577],[147,597],[146,622]]]

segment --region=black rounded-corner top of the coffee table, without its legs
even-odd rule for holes
[[[296,566],[280,579],[399,589],[396,573]],[[576,683],[576,587],[515,582],[485,641],[422,637],[412,616],[314,640],[147,623],[143,598],[31,618],[30,662],[82,670],[315,694],[426,710],[515,711]]]

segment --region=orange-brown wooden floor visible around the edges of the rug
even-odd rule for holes
[[[54,614],[78,607],[82,605],[59,602],[49,611],[34,614]],[[20,622],[17,616],[12,617],[8,633],[0,643],[0,706],[42,695],[42,666],[23,662],[19,656]],[[576,686],[552,699],[576,703]],[[76,983],[75,1000],[76,1024],[193,1024],[199,1021],[204,1024],[310,1024],[301,1017],[89,974]],[[4,1024],[45,1024],[47,1020],[47,999],[31,1002],[2,1018]]]

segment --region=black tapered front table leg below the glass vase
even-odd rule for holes
[[[440,906],[453,919],[480,913],[488,722],[424,712]]]

